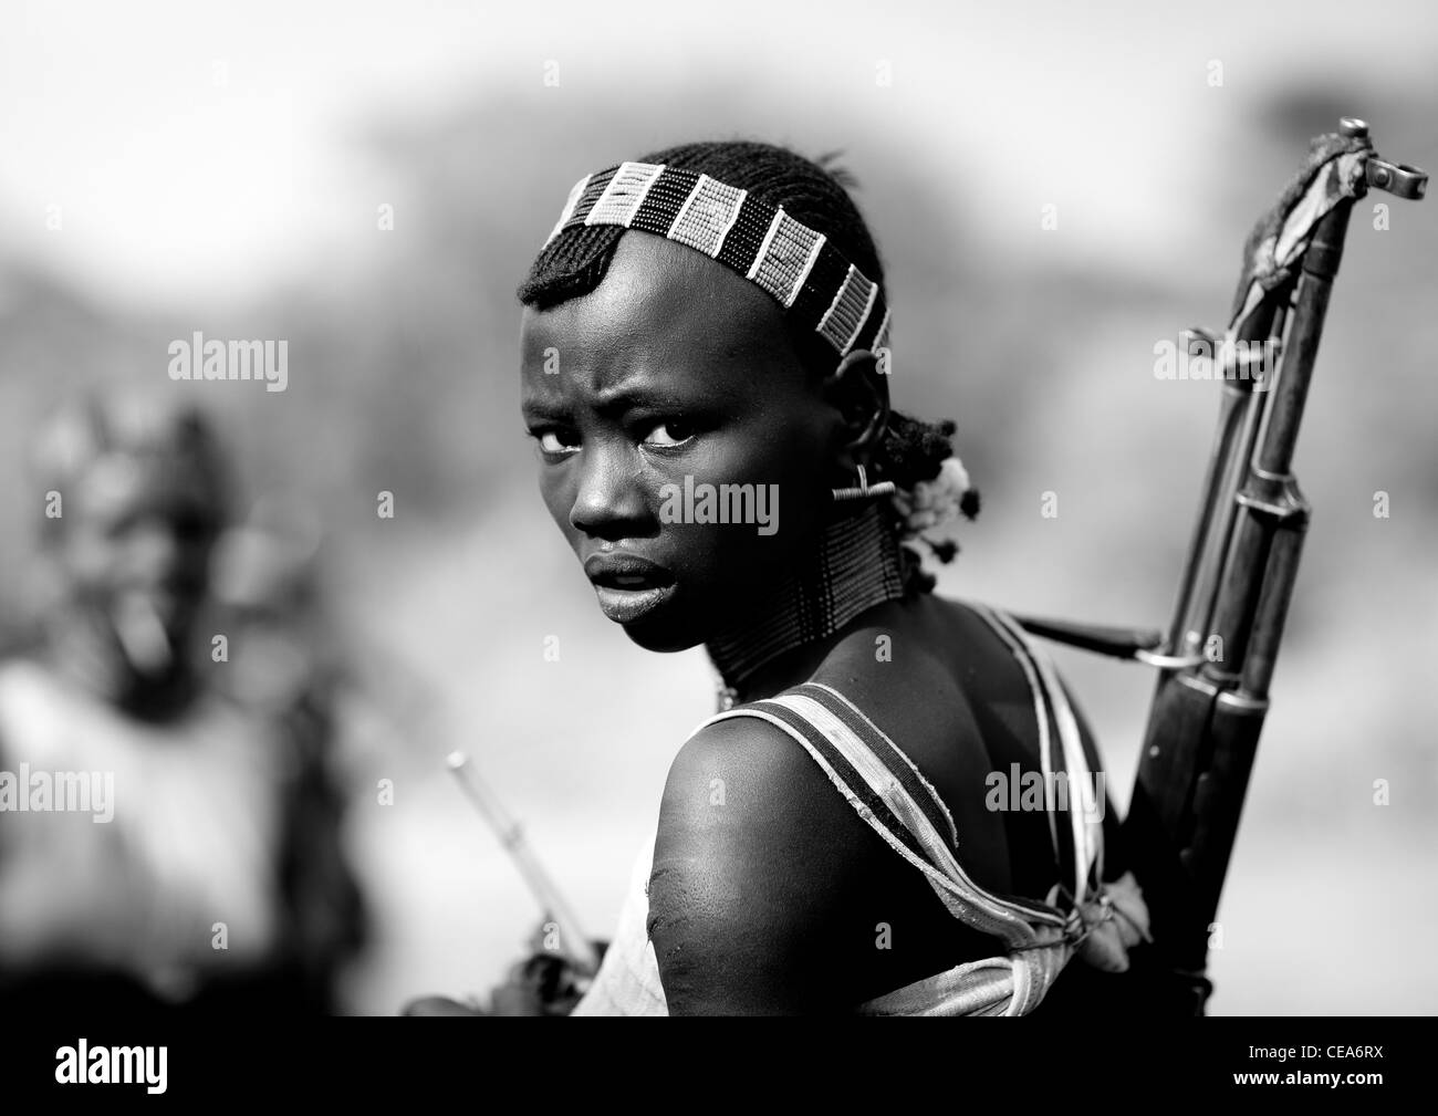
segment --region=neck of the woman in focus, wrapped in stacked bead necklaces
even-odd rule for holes
[[[824,650],[860,613],[905,595],[899,544],[879,508],[864,505],[831,519],[814,549],[749,613],[755,617],[705,649],[722,679],[720,709],[749,700],[787,662]],[[782,686],[781,686],[782,689]]]

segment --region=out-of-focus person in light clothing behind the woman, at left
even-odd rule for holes
[[[35,646],[0,662],[0,1002],[334,1011],[364,905],[325,690],[296,646],[266,672],[279,644],[244,643],[293,588],[255,546],[214,607],[232,493],[209,426],[86,398],[42,431],[35,477],[49,593]]]

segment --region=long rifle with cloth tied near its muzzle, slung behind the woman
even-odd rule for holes
[[[1015,617],[1037,636],[1159,670],[1122,834],[1159,966],[1181,987],[1166,1007],[1185,1014],[1204,1014],[1212,992],[1209,935],[1309,525],[1290,466],[1349,216],[1369,187],[1418,200],[1426,183],[1380,160],[1363,121],[1343,118],[1250,234],[1224,342],[1189,331],[1191,351],[1196,341],[1222,354],[1222,397],[1168,631]]]

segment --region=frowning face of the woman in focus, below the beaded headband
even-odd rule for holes
[[[604,613],[657,651],[751,618],[844,482],[778,303],[630,232],[591,293],[525,308],[521,352],[539,489]]]

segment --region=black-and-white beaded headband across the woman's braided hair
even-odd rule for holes
[[[879,285],[828,237],[748,190],[654,163],[621,163],[574,184],[549,244],[564,229],[618,224],[687,244],[764,288],[843,357],[889,344]]]

